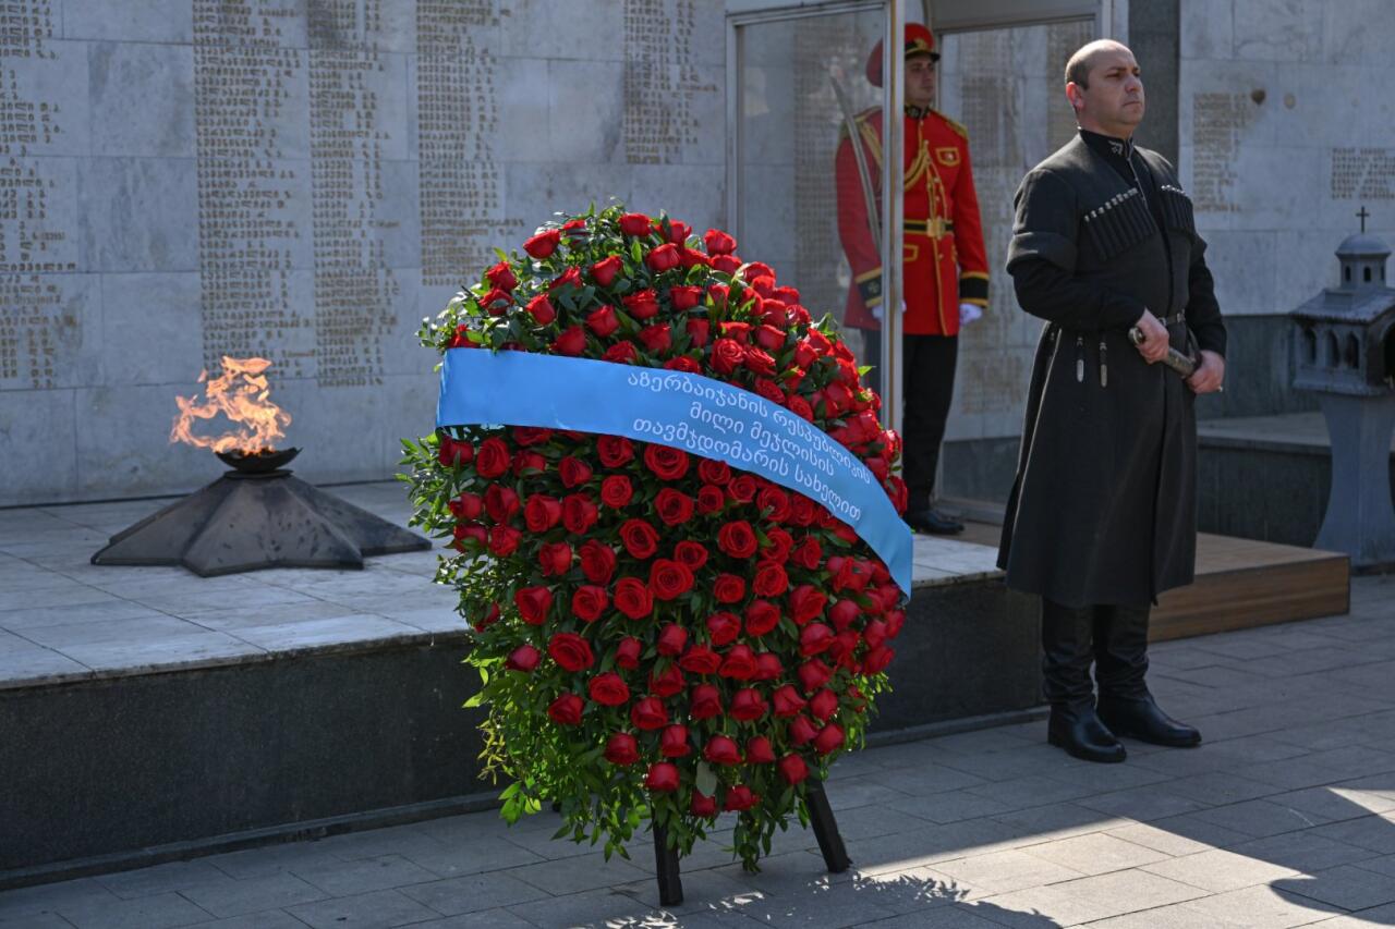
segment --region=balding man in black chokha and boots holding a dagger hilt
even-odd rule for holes
[[[1014,199],[1007,271],[1046,326],[999,565],[1010,587],[1042,597],[1048,741],[1122,762],[1120,735],[1201,742],[1158,709],[1144,675],[1149,604],[1193,579],[1193,403],[1222,389],[1226,331],[1191,199],[1165,158],[1134,145],[1144,92],[1133,53],[1084,46],[1066,96],[1080,133]],[[1169,347],[1200,357],[1191,377],[1159,364]]]

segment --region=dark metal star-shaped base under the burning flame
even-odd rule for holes
[[[227,471],[112,536],[92,564],[184,565],[213,577],[259,568],[361,569],[368,555],[431,548],[421,536],[276,469],[294,458],[296,449],[287,451],[272,470]]]

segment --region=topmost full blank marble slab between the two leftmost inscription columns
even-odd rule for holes
[[[194,158],[194,49],[92,42],[92,133],[102,155]]]

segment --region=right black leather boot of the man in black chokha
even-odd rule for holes
[[[1191,748],[1201,732],[1163,713],[1148,693],[1148,607],[1098,607],[1095,679],[1099,718],[1117,735],[1152,745]]]

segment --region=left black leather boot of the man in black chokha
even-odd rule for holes
[[[1046,741],[1087,762],[1122,762],[1124,746],[1095,716],[1092,630],[1092,608],[1042,600],[1042,679],[1050,703]]]

